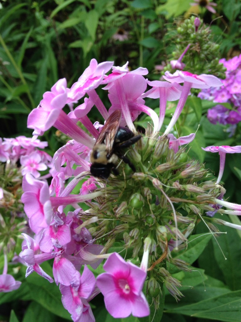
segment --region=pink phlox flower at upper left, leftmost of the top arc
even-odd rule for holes
[[[33,128],[37,132],[44,132],[51,128],[67,103],[67,93],[67,81],[62,78],[54,84],[50,92],[43,94],[40,105],[30,112],[28,128]]]

